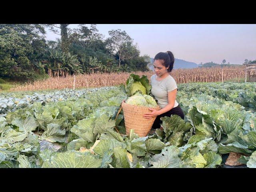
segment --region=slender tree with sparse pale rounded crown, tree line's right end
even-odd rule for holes
[[[119,56],[119,67],[122,60],[122,54],[127,44],[132,44],[133,39],[125,32],[120,29],[111,30],[108,32],[110,38],[106,40],[107,47],[110,48],[111,54],[118,54]],[[124,57],[123,57],[124,59]]]

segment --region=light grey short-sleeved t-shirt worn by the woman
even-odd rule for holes
[[[170,75],[158,81],[156,80],[156,74],[154,74],[150,78],[150,84],[152,86],[151,93],[161,109],[168,104],[168,92],[178,88],[174,78]],[[175,100],[173,108],[176,106],[178,106],[178,102]]]

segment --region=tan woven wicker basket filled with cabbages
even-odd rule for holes
[[[153,108],[159,111],[161,108],[157,107],[141,107],[136,105],[130,105],[122,102],[122,108],[124,111],[124,124],[126,129],[126,135],[130,134],[130,130],[133,129],[140,137],[145,137],[150,131],[156,117],[150,120],[143,117],[143,114],[150,113],[148,108]]]

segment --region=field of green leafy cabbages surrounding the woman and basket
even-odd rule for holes
[[[125,134],[122,110],[116,116],[122,100],[137,91],[129,82],[0,94],[0,167],[219,168],[230,152],[256,167],[255,83],[178,84],[185,119],[164,117],[163,130],[140,138]],[[146,84],[139,86],[148,94]]]

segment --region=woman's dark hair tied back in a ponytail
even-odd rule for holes
[[[173,64],[174,64],[174,56],[173,56],[172,52],[170,52],[170,51],[167,51],[165,53],[160,52],[160,53],[156,54],[154,60],[161,60],[163,66],[165,66],[166,68],[169,67],[167,72],[172,71]]]

